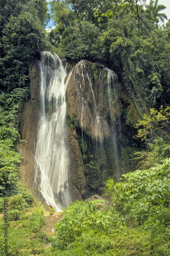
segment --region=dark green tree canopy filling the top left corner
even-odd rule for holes
[[[24,87],[29,81],[32,58],[47,47],[46,5],[45,0],[1,2],[1,90]]]

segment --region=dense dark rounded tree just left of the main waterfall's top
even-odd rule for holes
[[[3,30],[5,56],[0,60],[0,89],[11,91],[25,87],[33,56],[45,48],[45,30],[39,19],[29,12],[11,16]]]

